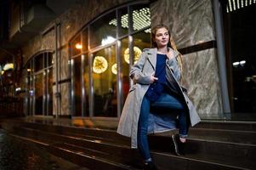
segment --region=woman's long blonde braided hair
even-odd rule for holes
[[[178,51],[177,47],[176,47],[176,44],[174,42],[174,39],[171,37],[171,34],[170,34],[170,31],[168,29],[168,26],[165,26],[165,25],[157,25],[155,26],[154,28],[152,28],[151,30],[151,47],[152,48],[157,48],[157,44],[156,44],[156,41],[155,41],[155,37],[156,37],[156,31],[160,28],[165,28],[167,31],[168,31],[168,34],[169,34],[169,42],[168,42],[168,47],[170,48],[173,48],[174,51]],[[180,80],[181,81],[181,78],[182,78],[182,72],[183,72],[183,68],[182,68],[182,64],[183,64],[183,61],[182,61],[182,54],[178,54],[178,57],[177,57],[177,60],[178,60],[178,65],[179,65],[179,71],[180,71]]]

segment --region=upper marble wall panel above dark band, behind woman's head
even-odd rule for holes
[[[211,0],[158,0],[151,3],[151,26],[170,28],[178,48],[215,39]]]

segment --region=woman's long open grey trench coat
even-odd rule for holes
[[[179,85],[180,71],[177,63],[177,56],[179,52],[169,48],[174,53],[173,59],[167,59],[166,62],[166,77],[168,84],[171,84],[178,93],[183,96],[182,103],[185,104],[185,111],[189,114],[191,126],[193,127],[196,123],[200,122],[201,119],[198,116],[194,105],[191,100],[185,94],[185,88],[181,88]],[[133,79],[134,84],[129,88],[128,97],[122,109],[122,115],[119,120],[117,127],[117,133],[122,134],[131,138],[131,147],[137,148],[137,131],[140,107],[142,99],[145,96],[147,89],[150,87],[150,77],[156,72],[156,48],[145,48],[143,53],[140,55],[138,62],[132,67],[130,71],[130,77]],[[172,130],[172,129],[165,129]],[[163,132],[154,129],[154,133]]]

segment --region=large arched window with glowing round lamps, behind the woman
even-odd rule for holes
[[[72,116],[121,115],[129,69],[151,46],[150,19],[149,4],[128,4],[101,14],[71,39]]]

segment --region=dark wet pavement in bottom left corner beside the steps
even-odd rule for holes
[[[0,170],[88,170],[0,129]]]

